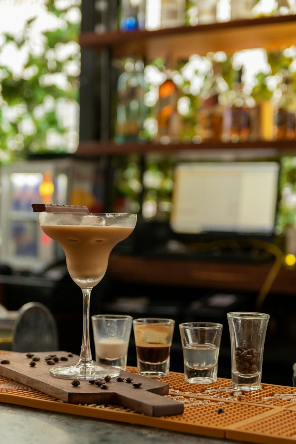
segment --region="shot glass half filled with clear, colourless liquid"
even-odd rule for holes
[[[185,322],[179,325],[185,381],[211,384],[217,380],[223,325],[215,322]]]

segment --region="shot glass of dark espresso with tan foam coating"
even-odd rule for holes
[[[139,375],[150,378],[168,376],[174,325],[173,319],[134,319],[134,339]]]

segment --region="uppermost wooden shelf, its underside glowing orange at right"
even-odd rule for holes
[[[235,20],[197,26],[166,28],[157,31],[83,32],[80,45],[95,51],[111,49],[112,55],[126,57],[142,54],[148,60],[167,57],[188,58],[191,54],[236,51],[250,48],[279,50],[295,45],[296,15]]]

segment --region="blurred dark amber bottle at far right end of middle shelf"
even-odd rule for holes
[[[296,92],[291,75],[284,75],[281,97],[275,101],[274,139],[296,139]]]

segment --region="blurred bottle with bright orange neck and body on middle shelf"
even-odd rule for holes
[[[182,118],[178,113],[178,99],[181,94],[172,79],[172,72],[166,70],[166,80],[158,88],[158,102],[155,106],[158,121],[155,141],[164,145],[178,143],[182,131]]]

